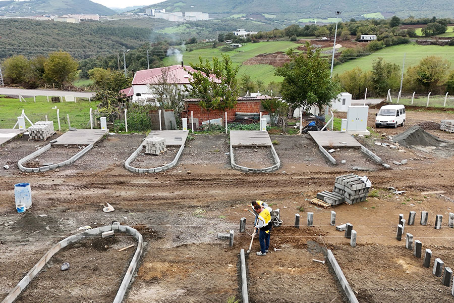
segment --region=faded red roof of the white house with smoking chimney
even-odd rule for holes
[[[145,84],[159,84],[162,81],[162,73],[167,73],[167,78],[169,83],[174,84],[189,84],[189,77],[191,74],[189,72],[196,72],[190,66],[185,65],[173,65],[160,68],[152,68],[148,70],[137,71],[134,75],[132,85],[145,85]],[[210,76],[213,79],[216,79],[214,76]]]

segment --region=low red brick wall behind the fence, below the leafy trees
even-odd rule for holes
[[[191,111],[193,112],[194,118],[199,119],[199,126],[202,125],[202,121],[207,121],[211,119],[222,118],[222,121],[225,117],[225,112],[227,112],[227,122],[233,122],[235,120],[235,113],[256,113],[259,114],[261,110],[260,101],[239,101],[237,106],[233,110],[227,111],[210,111],[209,116],[208,112],[202,109],[196,102],[189,102],[187,107],[187,112],[182,113],[183,118],[191,118]],[[262,114],[268,114],[262,110]]]

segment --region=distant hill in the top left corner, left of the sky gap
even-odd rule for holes
[[[0,1],[0,15],[33,16],[42,14],[98,14],[110,16],[117,13],[89,0]]]

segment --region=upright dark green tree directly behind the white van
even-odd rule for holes
[[[398,89],[401,69],[397,64],[378,58],[372,63],[372,85],[376,95],[384,96],[388,89]]]

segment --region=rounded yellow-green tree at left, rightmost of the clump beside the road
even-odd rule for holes
[[[44,63],[44,77],[56,84],[67,84],[76,79],[79,64],[66,52],[53,52]]]

